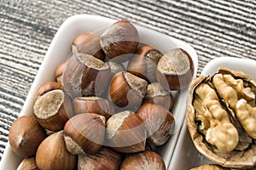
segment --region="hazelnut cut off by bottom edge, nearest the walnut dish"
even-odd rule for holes
[[[166,170],[166,164],[156,152],[154,151],[143,151],[133,156],[128,156],[122,162],[121,170]]]

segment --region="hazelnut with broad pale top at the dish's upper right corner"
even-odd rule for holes
[[[187,88],[193,74],[193,60],[182,48],[174,48],[164,54],[158,62],[156,71],[158,82],[168,90]]]

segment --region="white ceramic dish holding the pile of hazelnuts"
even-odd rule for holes
[[[44,57],[42,65],[32,83],[32,88],[27,95],[26,102],[20,112],[20,116],[32,114],[32,99],[37,88],[43,83],[48,81],[54,81],[54,73],[57,65],[61,61],[67,59],[71,52],[71,45],[75,37],[83,32],[99,31],[102,28],[106,28],[115,22],[116,20],[108,19],[102,16],[80,14],[68,18],[55,34],[53,41],[51,42],[49,49]],[[145,42],[160,49],[162,53],[166,53],[172,48],[183,48],[192,57],[195,65],[195,75],[197,73],[197,54],[195,49],[189,46],[189,44],[177,40],[173,37],[168,37],[157,31],[152,31],[142,26],[136,26],[139,32],[140,42]],[[160,147],[157,151],[163,157],[166,167],[169,165],[172,158],[172,152],[175,148],[179,130],[181,129],[185,116],[185,99],[187,96],[187,90],[184,89],[176,96],[176,104],[173,108],[173,114],[177,123],[177,133],[172,135],[172,138],[168,142]],[[20,157],[10,150],[9,144],[4,150],[0,169],[16,169],[20,162]]]

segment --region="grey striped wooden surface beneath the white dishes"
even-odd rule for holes
[[[254,0],[0,0],[0,159],[49,43],[74,14],[130,20],[188,42],[198,74],[214,58],[256,59]]]

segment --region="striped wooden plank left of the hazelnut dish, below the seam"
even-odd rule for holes
[[[19,116],[34,75],[0,64],[0,154],[8,140],[9,127]]]

